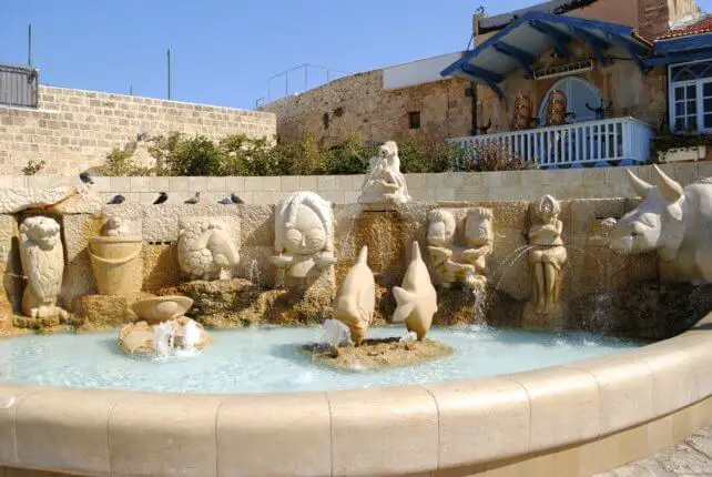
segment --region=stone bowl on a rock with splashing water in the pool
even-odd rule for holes
[[[139,322],[119,332],[119,346],[131,354],[164,355],[175,349],[202,349],[211,344],[203,326],[184,316],[193,306],[185,296],[156,296],[132,305]]]

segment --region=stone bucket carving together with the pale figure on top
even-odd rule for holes
[[[110,216],[102,235],[89,240],[91,268],[100,295],[129,296],[139,291],[143,276],[141,245],[141,233],[119,216]]]

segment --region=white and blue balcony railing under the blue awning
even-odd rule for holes
[[[541,168],[648,162],[653,129],[634,118],[587,121],[559,126],[449,139],[477,154],[477,146],[498,144]]]

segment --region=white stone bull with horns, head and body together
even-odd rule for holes
[[[658,185],[625,171],[643,202],[625,214],[610,234],[610,246],[623,254],[657,251],[673,265],[675,278],[712,282],[712,179],[684,189],[653,165]]]

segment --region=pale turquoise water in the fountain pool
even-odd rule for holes
[[[337,372],[303,355],[322,328],[212,331],[202,353],[145,358],[116,348],[116,335],[30,335],[0,341],[0,379],[69,387],[175,393],[272,393],[403,385],[491,376],[563,364],[640,346],[598,335],[549,334],[482,326],[434,328],[428,337],[455,347],[447,358],[378,372]],[[400,336],[403,327],[369,329]],[[355,368],[358,365],[355,363]]]

